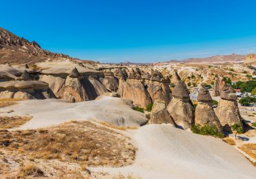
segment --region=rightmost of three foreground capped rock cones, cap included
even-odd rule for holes
[[[234,89],[225,86],[220,93],[221,100],[216,108],[216,116],[220,120],[223,130],[232,132],[232,125],[239,123],[243,126],[239,113],[236,93]]]

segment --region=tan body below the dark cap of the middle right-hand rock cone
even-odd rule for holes
[[[214,113],[212,105],[205,102],[198,102],[195,109],[195,123],[200,125],[216,125],[219,132],[221,132],[221,123]]]

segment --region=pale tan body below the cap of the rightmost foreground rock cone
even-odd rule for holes
[[[232,132],[231,126],[240,123],[243,126],[236,100],[221,99],[216,108],[216,116],[220,120],[223,130]]]

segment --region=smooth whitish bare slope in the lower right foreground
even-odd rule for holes
[[[256,169],[232,146],[170,125],[146,125],[132,137],[138,144],[132,166],[104,168],[141,178],[255,178]],[[94,168],[102,170],[102,168]]]

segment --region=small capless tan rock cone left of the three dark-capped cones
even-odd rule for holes
[[[152,112],[150,114],[150,123],[152,124],[161,124],[161,123],[170,123],[175,127],[172,116],[168,113],[166,109],[166,104],[164,101],[156,100],[152,107]]]

